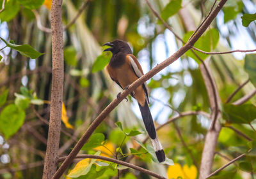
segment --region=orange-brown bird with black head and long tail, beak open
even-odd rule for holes
[[[112,52],[112,57],[106,67],[109,76],[123,90],[127,89],[131,83],[144,75],[140,63],[132,54],[131,47],[129,47],[127,42],[116,39],[105,43],[103,46],[106,45],[109,46],[109,48],[106,48],[104,52]],[[146,131],[148,132],[148,136],[151,138],[157,160],[159,162],[165,161],[164,150],[157,138],[156,128],[148,106],[149,100],[147,83],[143,83],[132,91],[131,96],[138,101],[141,116],[145,124]]]

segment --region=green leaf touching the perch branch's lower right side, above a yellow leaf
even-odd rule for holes
[[[96,133],[92,134],[90,139],[87,143],[84,144],[84,146],[81,148],[81,150],[89,150],[91,148],[95,148],[101,145],[102,141],[104,141],[105,136],[102,133]]]

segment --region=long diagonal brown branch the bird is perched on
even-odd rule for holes
[[[60,176],[64,173],[65,169],[68,168],[69,164],[72,162],[74,157],[76,157],[79,150],[83,147],[84,143],[88,140],[88,138],[92,135],[92,132],[96,129],[96,127],[106,118],[106,116],[128,95],[132,92],[132,90],[136,89],[139,85],[147,81],[148,79],[152,78],[152,76],[156,75],[159,71],[166,68],[166,66],[169,66],[174,61],[176,61],[181,55],[183,55],[186,51],[188,51],[202,36],[202,34],[205,32],[207,27],[211,24],[212,20],[216,17],[218,12],[221,10],[223,5],[226,3],[227,0],[221,0],[218,6],[212,11],[212,13],[209,15],[209,18],[205,20],[204,24],[198,29],[198,32],[193,36],[193,38],[189,39],[188,43],[186,43],[183,47],[181,47],[177,52],[175,52],[171,57],[166,59],[165,61],[161,62],[161,64],[157,65],[155,68],[153,68],[151,71],[146,73],[145,75],[141,76],[138,80],[136,80],[134,83],[132,83],[124,92],[120,94],[119,99],[113,100],[103,111],[100,113],[100,115],[95,118],[95,120],[92,122],[90,127],[88,127],[87,131],[83,134],[81,139],[78,141],[76,146],[73,148],[72,152],[68,155],[68,157],[65,159],[63,164],[61,164],[60,168],[52,179],[60,178]]]

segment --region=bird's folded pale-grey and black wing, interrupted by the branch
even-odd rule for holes
[[[134,55],[132,54],[127,54],[127,59],[128,61],[130,62],[130,65],[131,65],[131,68],[133,70],[133,72],[135,73],[135,75],[140,78],[141,76],[144,75],[143,73],[143,70],[140,66],[140,63],[138,62],[138,60],[136,59],[136,57],[134,57]],[[142,85],[144,91],[145,91],[145,94],[147,96],[147,102],[149,104],[149,99],[148,99],[148,88],[147,88],[147,83],[144,82],[143,85]]]

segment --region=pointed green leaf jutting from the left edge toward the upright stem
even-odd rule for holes
[[[21,55],[24,55],[25,57],[29,57],[31,59],[36,59],[39,56],[43,55],[42,53],[36,51],[34,48],[32,48],[30,45],[25,44],[25,45],[15,45],[13,43],[10,43],[6,41],[5,39],[1,38],[3,42],[7,45],[7,47],[10,47],[14,50],[17,50],[20,52]]]

